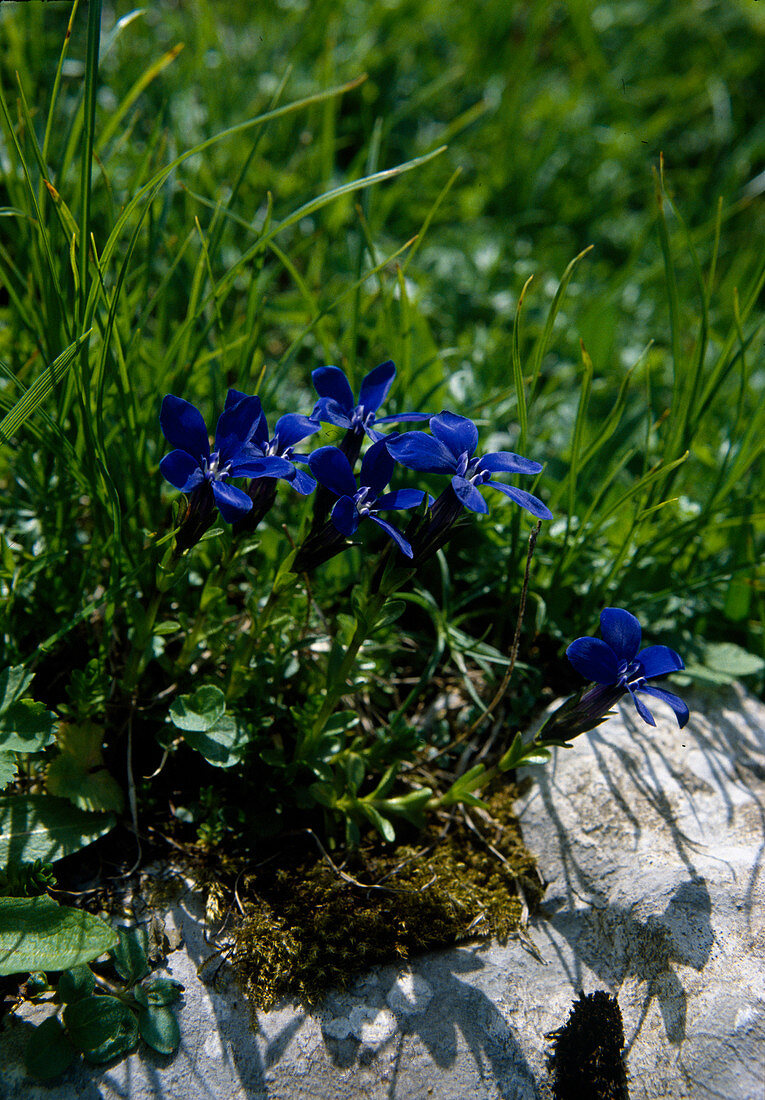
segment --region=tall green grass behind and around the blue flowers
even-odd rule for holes
[[[164,393],[285,411],[314,366],[387,356],[402,406],[547,463],[537,630],[615,602],[761,647],[763,29],[695,7],[651,6],[662,33],[640,3],[6,8],[8,660],[130,625],[171,519]],[[479,618],[525,543],[494,517],[450,565]]]

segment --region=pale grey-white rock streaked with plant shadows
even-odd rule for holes
[[[259,1013],[253,1034],[237,990],[197,977],[211,948],[189,892],[170,959],[186,986],[178,1055],[34,1086],[28,1007],[0,1036],[0,1098],[535,1100],[549,1096],[545,1034],[580,989],[608,989],[631,1100],[763,1100],[765,707],[743,689],[687,700],[682,732],[660,704],[656,729],[625,706],[529,769],[522,823],[548,887],[528,939],[383,968],[313,1014]]]

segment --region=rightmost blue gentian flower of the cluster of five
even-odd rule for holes
[[[492,474],[538,474],[538,462],[522,459],[511,451],[493,451],[474,457],[478,428],[468,417],[439,413],[430,418],[430,431],[405,431],[387,440],[387,450],[403,466],[424,473],[451,474],[451,487],[460,504],[471,512],[489,512],[479,487],[489,485],[515,501],[538,519],[551,519],[553,513],[536,496],[514,485],[492,480]]]

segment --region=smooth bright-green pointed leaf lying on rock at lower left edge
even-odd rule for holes
[[[68,970],[98,958],[117,942],[91,913],[40,898],[0,898],[0,976]]]

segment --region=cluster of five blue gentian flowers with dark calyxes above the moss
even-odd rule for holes
[[[294,569],[308,571],[349,546],[362,520],[381,528],[403,558],[418,565],[448,541],[455,521],[468,513],[487,513],[479,488],[489,486],[510,497],[539,519],[551,513],[525,490],[495,481],[498,473],[538,474],[542,465],[510,451],[476,455],[478,428],[472,420],[447,410],[397,413],[379,416],[395,380],[389,360],[363,378],[358,400],[346,374],[337,366],[323,366],[312,374],[318,399],[309,415],[288,413],[269,433],[260,398],[229,389],[226,406],[210,448],[201,414],[189,402],[168,394],[162,403],[160,424],[175,450],[166,454],[160,470],[176,488],[186,493],[176,538],[176,551],[190,549],[212,525],[216,509],[234,534],[252,531],[276,498],[276,482],[285,481],[297,493],[314,494],[313,525],[298,548]],[[425,431],[393,431],[382,426],[428,421]],[[296,452],[296,444],[316,435],[323,424],[343,428],[339,447],[319,447],[313,453]],[[353,468],[364,438],[372,440],[361,461],[359,482]],[[312,477],[300,465],[308,465]],[[383,493],[396,464],[423,473],[442,474],[449,485],[435,501],[424,490],[404,488]],[[244,487],[232,480],[247,479]],[[379,513],[419,508],[402,532]]]

